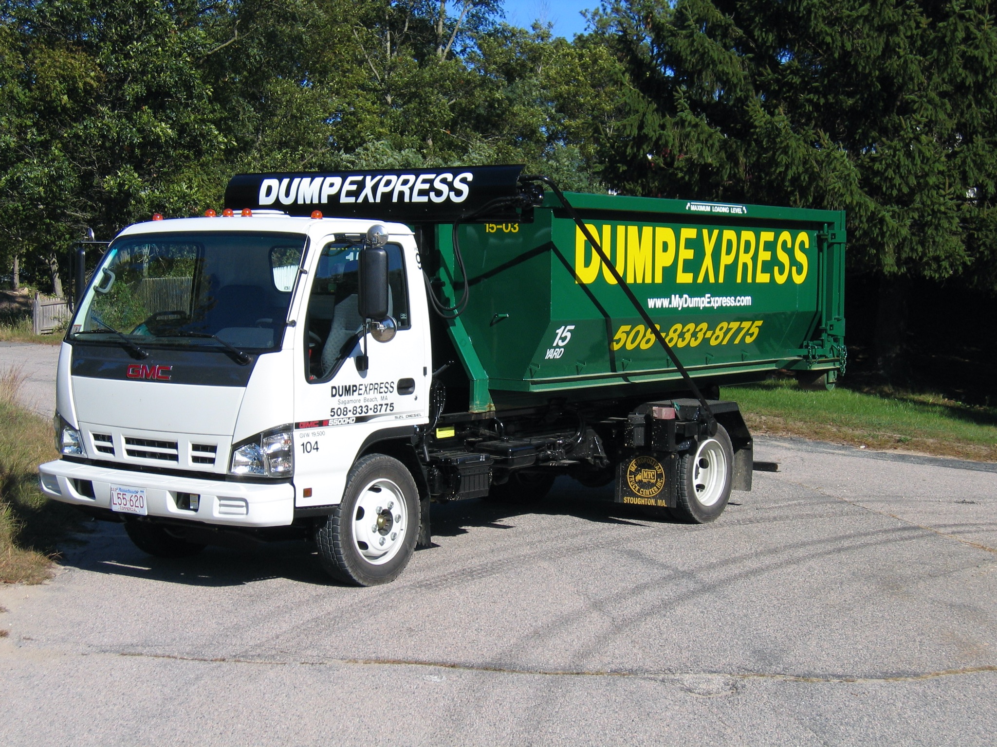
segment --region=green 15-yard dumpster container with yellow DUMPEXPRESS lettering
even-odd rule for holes
[[[565,196],[701,386],[842,371],[842,211]],[[435,242],[442,296],[459,299],[452,226]],[[552,193],[531,221],[461,225],[458,245],[471,298],[448,324],[473,411],[686,390]]]

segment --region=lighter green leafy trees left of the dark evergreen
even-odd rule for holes
[[[44,290],[86,226],[217,207],[240,170],[526,162],[599,189],[621,101],[605,45],[495,0],[0,8],[0,254]]]

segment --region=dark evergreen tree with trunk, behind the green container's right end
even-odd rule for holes
[[[610,181],[847,210],[852,268],[882,279],[885,373],[909,279],[997,289],[988,3],[631,0],[599,24],[635,89]]]

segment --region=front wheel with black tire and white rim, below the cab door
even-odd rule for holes
[[[402,462],[361,457],[346,478],[343,501],[315,533],[322,568],[361,587],[394,581],[416,549],[419,508],[419,489]]]

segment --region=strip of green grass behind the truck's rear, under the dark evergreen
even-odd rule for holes
[[[755,433],[997,461],[997,407],[890,387],[809,391],[794,379],[725,387]]]

